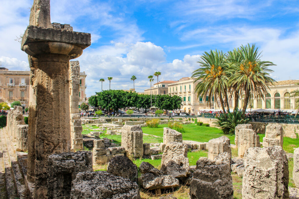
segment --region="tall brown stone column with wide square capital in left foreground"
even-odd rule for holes
[[[47,198],[48,156],[70,151],[69,60],[79,57],[91,44],[89,33],[73,32],[68,24],[51,24],[49,13],[49,0],[34,0],[31,25],[21,45],[23,51],[37,59],[39,69],[34,88],[36,199]]]

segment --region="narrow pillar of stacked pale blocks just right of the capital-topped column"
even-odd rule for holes
[[[79,61],[70,61],[70,118],[71,118],[71,150],[83,150],[82,125],[79,111],[80,65]]]

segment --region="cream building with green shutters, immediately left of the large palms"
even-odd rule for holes
[[[184,77],[181,78],[178,82],[168,84],[168,94],[178,95],[182,98],[183,109],[189,114],[197,115],[197,112],[200,109],[210,108],[203,98],[197,98],[197,93],[195,92],[195,87],[199,81],[195,81],[196,78]],[[207,96],[207,101],[208,101]],[[214,97],[212,96],[211,108],[214,107]]]

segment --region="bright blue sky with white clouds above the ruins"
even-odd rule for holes
[[[14,41],[29,23],[33,0],[1,0],[0,61],[28,70],[27,55]],[[277,66],[276,80],[299,79],[299,1],[92,1],[52,0],[51,22],[91,33],[92,44],[76,60],[87,74],[87,96],[112,89],[149,87],[155,71],[163,80],[191,76],[204,51],[256,43],[263,60]],[[156,78],[154,82],[156,81]]]

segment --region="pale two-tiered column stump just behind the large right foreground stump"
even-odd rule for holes
[[[281,146],[283,147],[283,127],[279,124],[268,124],[266,126],[263,147]]]

